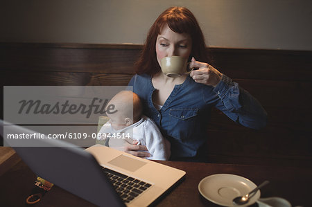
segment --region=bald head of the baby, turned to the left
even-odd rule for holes
[[[142,116],[142,104],[139,96],[132,91],[117,93],[107,104],[114,105],[113,114],[107,114],[110,124],[115,130],[123,129],[136,123]]]

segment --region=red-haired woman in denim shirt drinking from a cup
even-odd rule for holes
[[[190,75],[169,78],[160,68],[166,56],[182,56],[198,68]],[[266,125],[266,111],[250,94],[208,64],[205,40],[198,21],[187,8],[168,8],[151,26],[129,85],[171,142],[172,160],[200,159],[207,138],[212,107],[236,123],[259,129]],[[135,144],[135,143],[134,143]],[[148,156],[146,147],[130,145],[125,152]]]

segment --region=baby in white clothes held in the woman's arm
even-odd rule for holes
[[[110,120],[101,127],[105,145],[123,150],[127,144],[137,140],[137,145],[145,145],[150,153],[146,159],[168,160],[171,154],[170,143],[162,136],[157,125],[142,114],[139,96],[132,91],[117,93],[107,106],[113,105]]]

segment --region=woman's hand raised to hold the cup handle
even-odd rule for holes
[[[189,74],[195,82],[216,87],[222,78],[222,73],[217,69],[205,62],[196,61],[194,57],[192,57],[189,67],[198,68],[198,70],[193,70]]]

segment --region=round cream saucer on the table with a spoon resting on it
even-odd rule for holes
[[[198,184],[200,194],[220,206],[234,206],[233,199],[242,196],[257,186],[249,179],[235,174],[213,174],[205,177]],[[260,197],[260,190],[245,206],[254,204]]]

